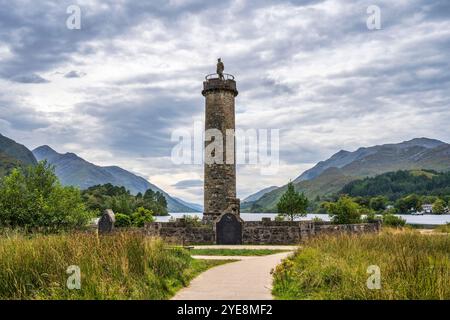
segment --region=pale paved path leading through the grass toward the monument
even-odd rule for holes
[[[260,246],[258,246],[260,247]],[[217,248],[214,246],[214,248]],[[227,246],[227,248],[230,248]],[[279,247],[277,246],[277,249]],[[239,246],[243,249],[243,246]],[[221,256],[221,259],[241,259],[214,267],[192,280],[189,287],[180,290],[174,300],[270,300],[272,275],[270,271],[291,252],[262,257]],[[204,256],[214,258],[217,256]]]

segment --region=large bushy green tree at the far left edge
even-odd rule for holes
[[[0,182],[0,225],[56,232],[85,226],[93,217],[80,191],[63,187],[47,162],[15,169]]]

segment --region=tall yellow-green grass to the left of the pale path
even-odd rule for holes
[[[2,236],[0,299],[168,299],[223,263],[133,233]],[[69,266],[80,269],[80,290],[67,288]]]

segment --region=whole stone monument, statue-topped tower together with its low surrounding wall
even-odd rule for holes
[[[236,81],[224,73],[221,59],[217,73],[206,76],[205,97],[205,209],[203,223],[192,225],[180,218],[145,225],[147,235],[182,244],[298,244],[318,234],[379,232],[381,224],[328,225],[314,221],[244,222],[236,198],[235,98]],[[108,217],[107,217],[108,218]],[[108,218],[109,219],[109,218]],[[109,230],[109,229],[108,229]]]

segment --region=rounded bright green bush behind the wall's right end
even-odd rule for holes
[[[324,207],[335,224],[361,222],[361,206],[348,196],[342,196],[337,202],[324,203]]]

